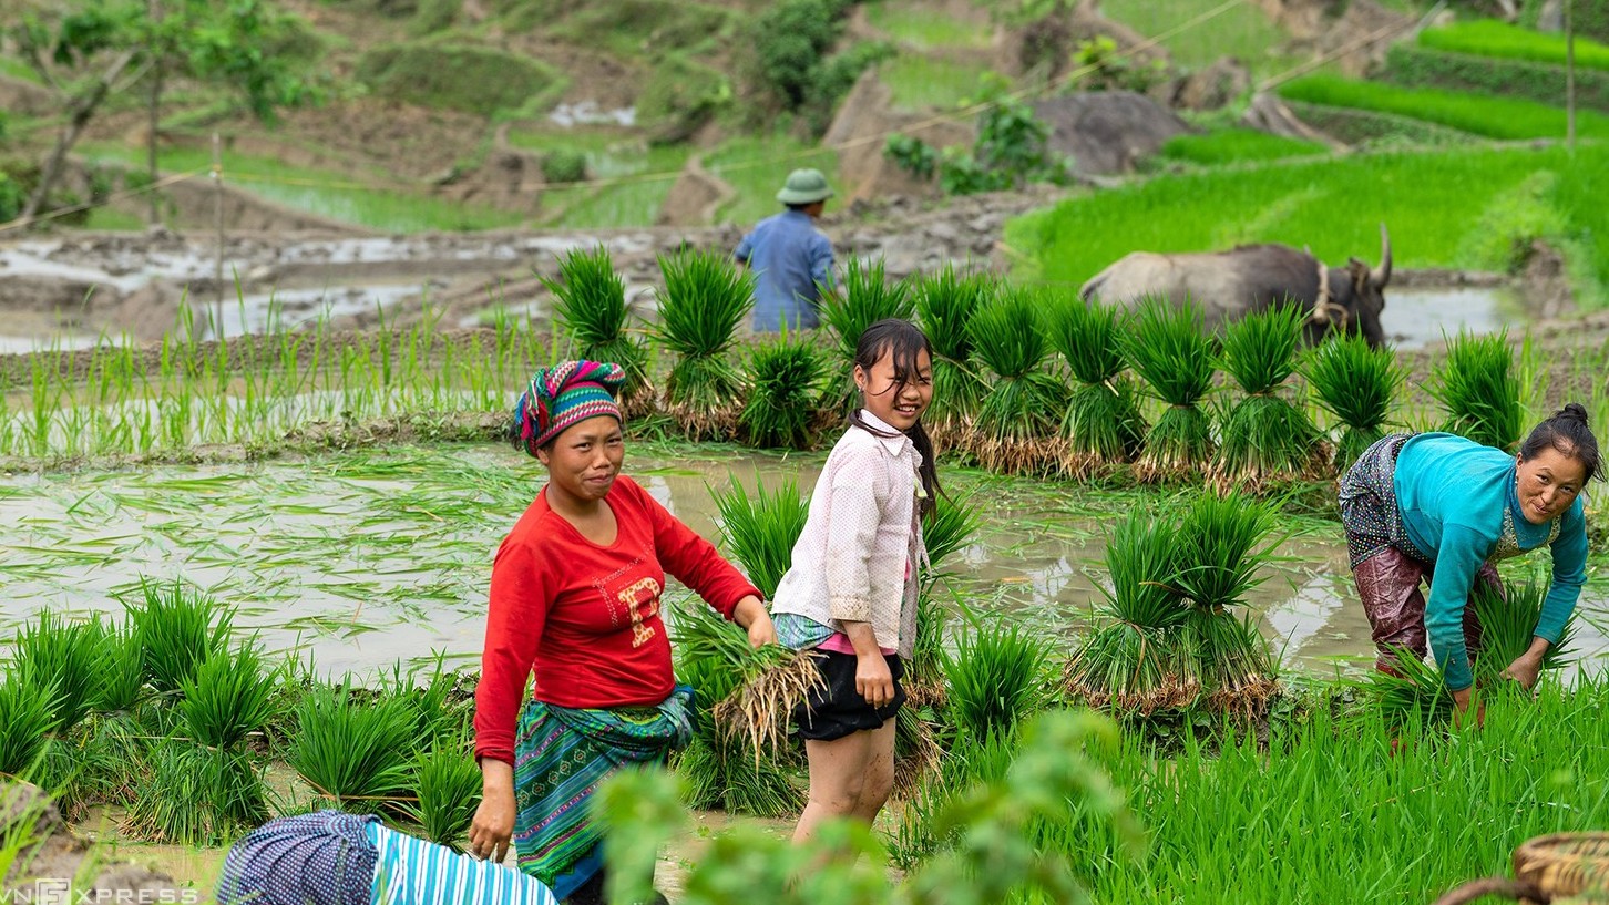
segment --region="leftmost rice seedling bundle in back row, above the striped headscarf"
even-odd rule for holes
[[[558,280],[541,280],[553,293],[553,321],[574,344],[570,357],[613,362],[624,368],[621,412],[626,418],[650,413],[648,346],[626,331],[631,318],[626,281],[615,273],[608,248],[573,249],[558,259]]]

